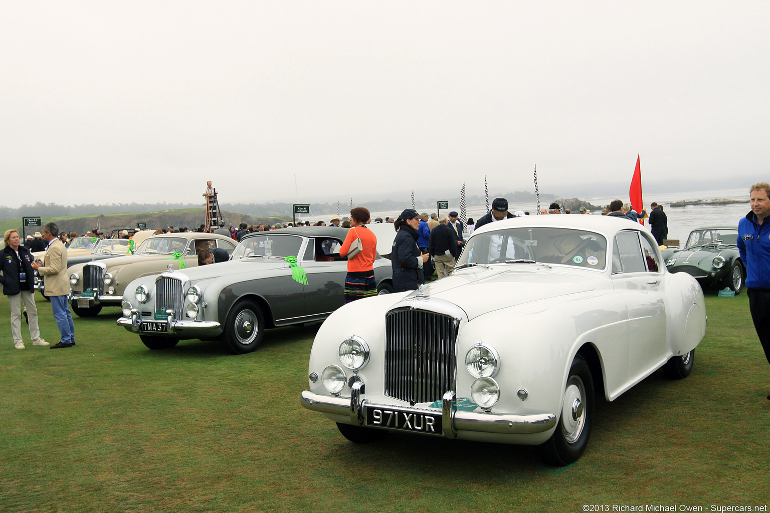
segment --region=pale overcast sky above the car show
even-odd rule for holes
[[[228,203],[406,203],[483,195],[484,175],[533,191],[534,165],[541,192],[627,196],[638,154],[644,188],[748,186],[770,179],[768,19],[703,0],[4,1],[2,203],[198,202],[207,179]]]

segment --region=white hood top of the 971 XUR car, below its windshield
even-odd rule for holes
[[[450,301],[468,318],[531,301],[596,290],[596,278],[541,265],[494,265],[460,269],[422,288],[423,295]],[[415,297],[414,291],[404,299]]]

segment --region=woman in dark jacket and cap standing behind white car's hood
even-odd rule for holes
[[[417,246],[417,228],[420,227],[419,214],[413,208],[407,208],[394,223],[396,238],[393,240],[393,252],[390,264],[393,266],[393,291],[417,290],[423,283],[423,264],[430,254],[420,252]]]

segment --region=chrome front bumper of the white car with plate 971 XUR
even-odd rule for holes
[[[388,406],[376,405],[362,398],[363,388],[361,381],[353,384],[350,398],[318,395],[306,390],[302,392],[300,404],[309,410],[320,411],[320,413],[349,416],[351,424],[363,425],[364,408],[387,408]],[[444,398],[441,401],[441,422],[444,428],[444,436],[447,438],[457,438],[457,431],[530,435],[532,433],[548,431],[556,425],[557,421],[556,415],[552,413],[514,415],[487,413],[486,411],[457,411],[452,408],[453,401],[454,391],[448,391],[444,394]],[[409,409],[403,406],[392,406],[401,410]],[[415,409],[415,411],[422,410]]]

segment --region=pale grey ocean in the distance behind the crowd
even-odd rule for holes
[[[735,205],[691,205],[687,207],[671,207],[671,202],[692,201],[697,199],[745,199],[745,203],[736,203]],[[591,205],[608,205],[615,198],[581,198],[591,203]],[[624,202],[628,198],[618,198]],[[697,191],[697,192],[667,192],[665,194],[644,195],[644,206],[648,209],[651,202],[657,202],[663,205],[663,210],[668,217],[668,238],[678,238],[682,243],[687,240],[687,236],[695,228],[708,225],[738,225],[738,219],[744,217],[750,210],[748,202],[748,187],[736,189],[719,189],[715,191]],[[547,207],[545,202],[541,207]],[[404,205],[407,208],[410,205]],[[451,210],[460,211],[459,205],[450,205]],[[470,218],[478,219],[486,213],[484,205],[474,205],[467,207],[467,215]],[[508,205],[510,212],[523,210],[534,213],[537,211],[537,205],[534,203],[517,203]],[[431,210],[430,212],[435,212]],[[442,211],[442,213],[448,213]],[[346,210],[340,208],[340,217],[347,214]],[[396,217],[400,212],[372,212],[372,219],[387,216]],[[577,215],[577,214],[575,214]],[[601,212],[591,212],[591,215],[601,215]],[[316,222],[319,220],[329,222],[330,215],[306,216],[303,219]]]

